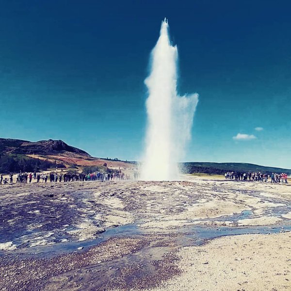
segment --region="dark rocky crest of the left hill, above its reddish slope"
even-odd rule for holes
[[[22,154],[22,155],[54,155],[74,153],[90,157],[85,151],[68,146],[62,140],[52,140],[29,142],[17,139],[0,138],[0,155]]]

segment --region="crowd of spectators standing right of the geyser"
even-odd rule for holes
[[[259,182],[268,182],[268,179],[271,178],[271,183],[288,183],[288,175],[286,173],[272,173],[272,175],[268,175],[261,172],[226,172],[225,178],[230,180]]]

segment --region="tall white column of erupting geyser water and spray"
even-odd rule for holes
[[[177,95],[177,46],[169,39],[168,21],[162,21],[158,42],[151,53],[151,72],[145,83],[147,131],[141,179],[178,180],[177,162],[190,138],[198,95]]]

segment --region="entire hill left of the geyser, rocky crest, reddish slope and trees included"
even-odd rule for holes
[[[134,162],[114,159],[100,159],[87,152],[69,146],[62,140],[30,142],[18,139],[0,138],[0,173],[26,171],[36,168],[108,167],[109,169],[135,167]]]

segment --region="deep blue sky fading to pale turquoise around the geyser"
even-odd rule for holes
[[[199,94],[185,160],[291,168],[290,14],[290,1],[0,0],[0,137],[139,159],[167,17],[179,94]]]

